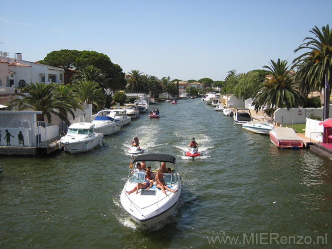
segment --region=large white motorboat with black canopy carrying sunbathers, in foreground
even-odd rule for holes
[[[151,165],[152,169],[156,170],[161,166],[162,162],[171,163],[171,168],[174,170],[172,174],[163,174],[166,185],[176,192],[169,192],[166,190],[166,195],[155,185],[149,190],[140,189],[138,194],[128,194],[126,191],[133,190],[137,183],[145,181],[146,173],[134,172],[130,174],[120,196],[122,207],[127,211],[130,218],[142,225],[151,226],[168,218],[174,211],[176,203],[181,194],[181,179],[177,173],[175,157],[168,154],[142,154],[137,156],[134,163],[146,161],[146,164]],[[134,169],[136,168],[136,164]],[[170,166],[166,166],[170,167]],[[152,173],[156,174],[156,173]]]

